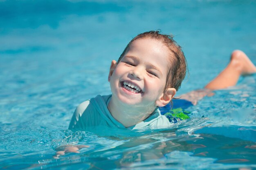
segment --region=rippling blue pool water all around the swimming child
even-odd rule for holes
[[[204,87],[241,49],[256,64],[256,2],[0,1],[0,169],[255,169],[256,75],[189,107],[160,130],[67,130],[79,103],[110,94],[111,60],[161,29],[183,47]],[[54,159],[61,145],[88,145]]]

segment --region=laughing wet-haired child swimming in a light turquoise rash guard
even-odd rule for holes
[[[133,38],[118,61],[112,60],[108,81],[112,94],[81,103],[70,121],[70,130],[99,132],[104,128],[167,128],[173,125],[159,107],[170,103],[186,75],[186,59],[171,36],[148,31]],[[229,65],[203,90],[184,94],[196,104],[211,90],[236,85],[240,75],[256,67],[242,51],[234,51]],[[170,104],[169,104],[170,105]],[[171,108],[169,108],[171,109]]]

